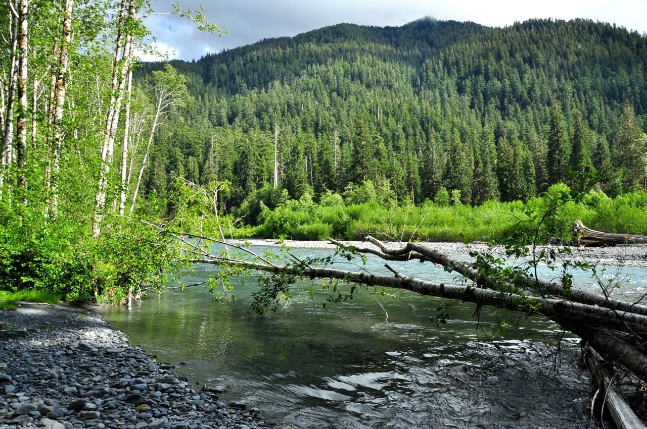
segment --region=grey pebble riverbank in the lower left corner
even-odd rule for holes
[[[259,429],[257,408],[176,377],[89,307],[0,310],[0,429]]]

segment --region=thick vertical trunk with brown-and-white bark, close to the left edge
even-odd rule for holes
[[[18,117],[16,131],[18,134],[17,165],[19,169],[19,186],[27,187],[27,32],[29,0],[19,0],[18,11]],[[23,202],[27,204],[27,196]]]

